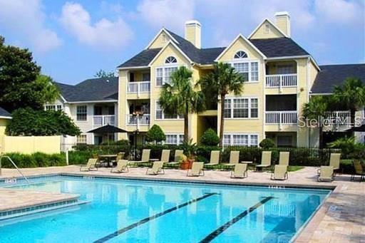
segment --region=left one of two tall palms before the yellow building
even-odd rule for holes
[[[205,96],[195,91],[192,84],[192,71],[181,66],[171,74],[170,83],[163,85],[158,102],[165,113],[184,116],[184,141],[189,140],[189,115],[205,110]]]

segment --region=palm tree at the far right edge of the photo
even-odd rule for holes
[[[350,110],[351,128],[355,126],[355,113],[365,105],[365,85],[359,78],[346,78],[343,86],[334,87],[334,100]]]

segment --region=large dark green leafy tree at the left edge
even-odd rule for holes
[[[58,98],[51,78],[39,76],[40,70],[28,49],[6,46],[0,36],[0,106],[39,109]]]

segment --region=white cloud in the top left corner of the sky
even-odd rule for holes
[[[46,52],[61,45],[57,33],[45,22],[40,0],[0,0],[0,25],[26,38],[34,51]]]

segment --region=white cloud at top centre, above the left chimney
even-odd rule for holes
[[[185,21],[193,19],[194,5],[192,0],[143,0],[137,10],[140,18],[156,29],[165,26],[182,31]]]

